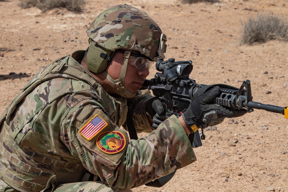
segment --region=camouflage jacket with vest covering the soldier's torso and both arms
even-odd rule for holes
[[[1,116],[0,178],[19,191],[83,181],[90,173],[111,187],[131,189],[196,160],[176,116],[154,130],[146,120],[148,90],[132,99],[137,132],[128,140],[127,99],[113,98],[77,60],[52,62],[22,89]],[[153,131],[152,131],[153,130]]]

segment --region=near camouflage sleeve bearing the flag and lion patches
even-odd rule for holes
[[[86,112],[79,113],[83,110]],[[176,116],[166,119],[148,136],[129,141],[127,133],[110,121],[105,110],[88,99],[68,112],[60,140],[89,172],[120,189],[143,185],[196,161]]]

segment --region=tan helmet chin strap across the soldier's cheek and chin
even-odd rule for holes
[[[126,69],[127,69],[127,64],[128,64],[128,59],[130,57],[131,54],[131,50],[126,50],[124,52],[124,59],[123,59],[123,63],[122,63],[122,68],[121,68],[121,72],[120,72],[120,77],[119,79],[112,79],[112,77],[110,77],[110,75],[108,75],[108,73],[104,70],[102,72],[102,74],[104,75],[104,77],[106,79],[108,79],[108,81],[110,81],[110,83],[112,83],[113,85],[116,86],[117,91],[119,92],[119,94],[122,97],[126,97],[126,98],[132,98],[136,95],[136,93],[132,93],[130,91],[128,91],[125,87],[124,87],[124,79],[125,79],[125,74],[126,74]]]

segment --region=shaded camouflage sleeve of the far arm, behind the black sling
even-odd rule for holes
[[[148,89],[139,91],[139,95],[132,98],[132,102],[129,109],[132,110],[133,122],[137,133],[151,133],[155,130],[149,123],[146,116],[146,103],[153,96],[150,94]]]

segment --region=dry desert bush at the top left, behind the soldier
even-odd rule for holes
[[[26,9],[30,7],[37,7],[43,12],[50,9],[64,7],[72,12],[82,12],[85,1],[84,0],[20,0],[18,4],[20,7]]]

